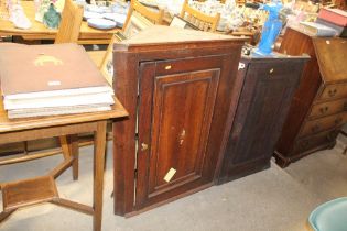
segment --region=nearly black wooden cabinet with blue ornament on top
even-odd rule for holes
[[[270,166],[291,99],[308,56],[242,56],[243,79],[218,184]],[[232,121],[232,118],[230,118]]]

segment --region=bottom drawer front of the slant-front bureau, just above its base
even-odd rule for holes
[[[316,135],[301,139],[295,142],[293,153],[302,153],[308,150],[313,150],[318,146],[324,146],[330,144],[336,140],[338,130],[333,130],[328,132],[321,132]]]

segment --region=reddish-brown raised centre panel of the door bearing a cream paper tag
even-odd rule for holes
[[[219,70],[155,77],[149,197],[202,177]],[[176,170],[170,179],[171,169]]]

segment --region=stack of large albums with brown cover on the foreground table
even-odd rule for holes
[[[0,86],[8,117],[110,110],[113,90],[77,44],[0,44]]]

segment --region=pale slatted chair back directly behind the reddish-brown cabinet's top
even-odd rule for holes
[[[188,0],[185,0],[182,7],[180,16],[202,31],[215,32],[218,22],[220,20],[220,13],[217,13],[215,16],[207,15],[198,10],[195,10],[188,4]]]

